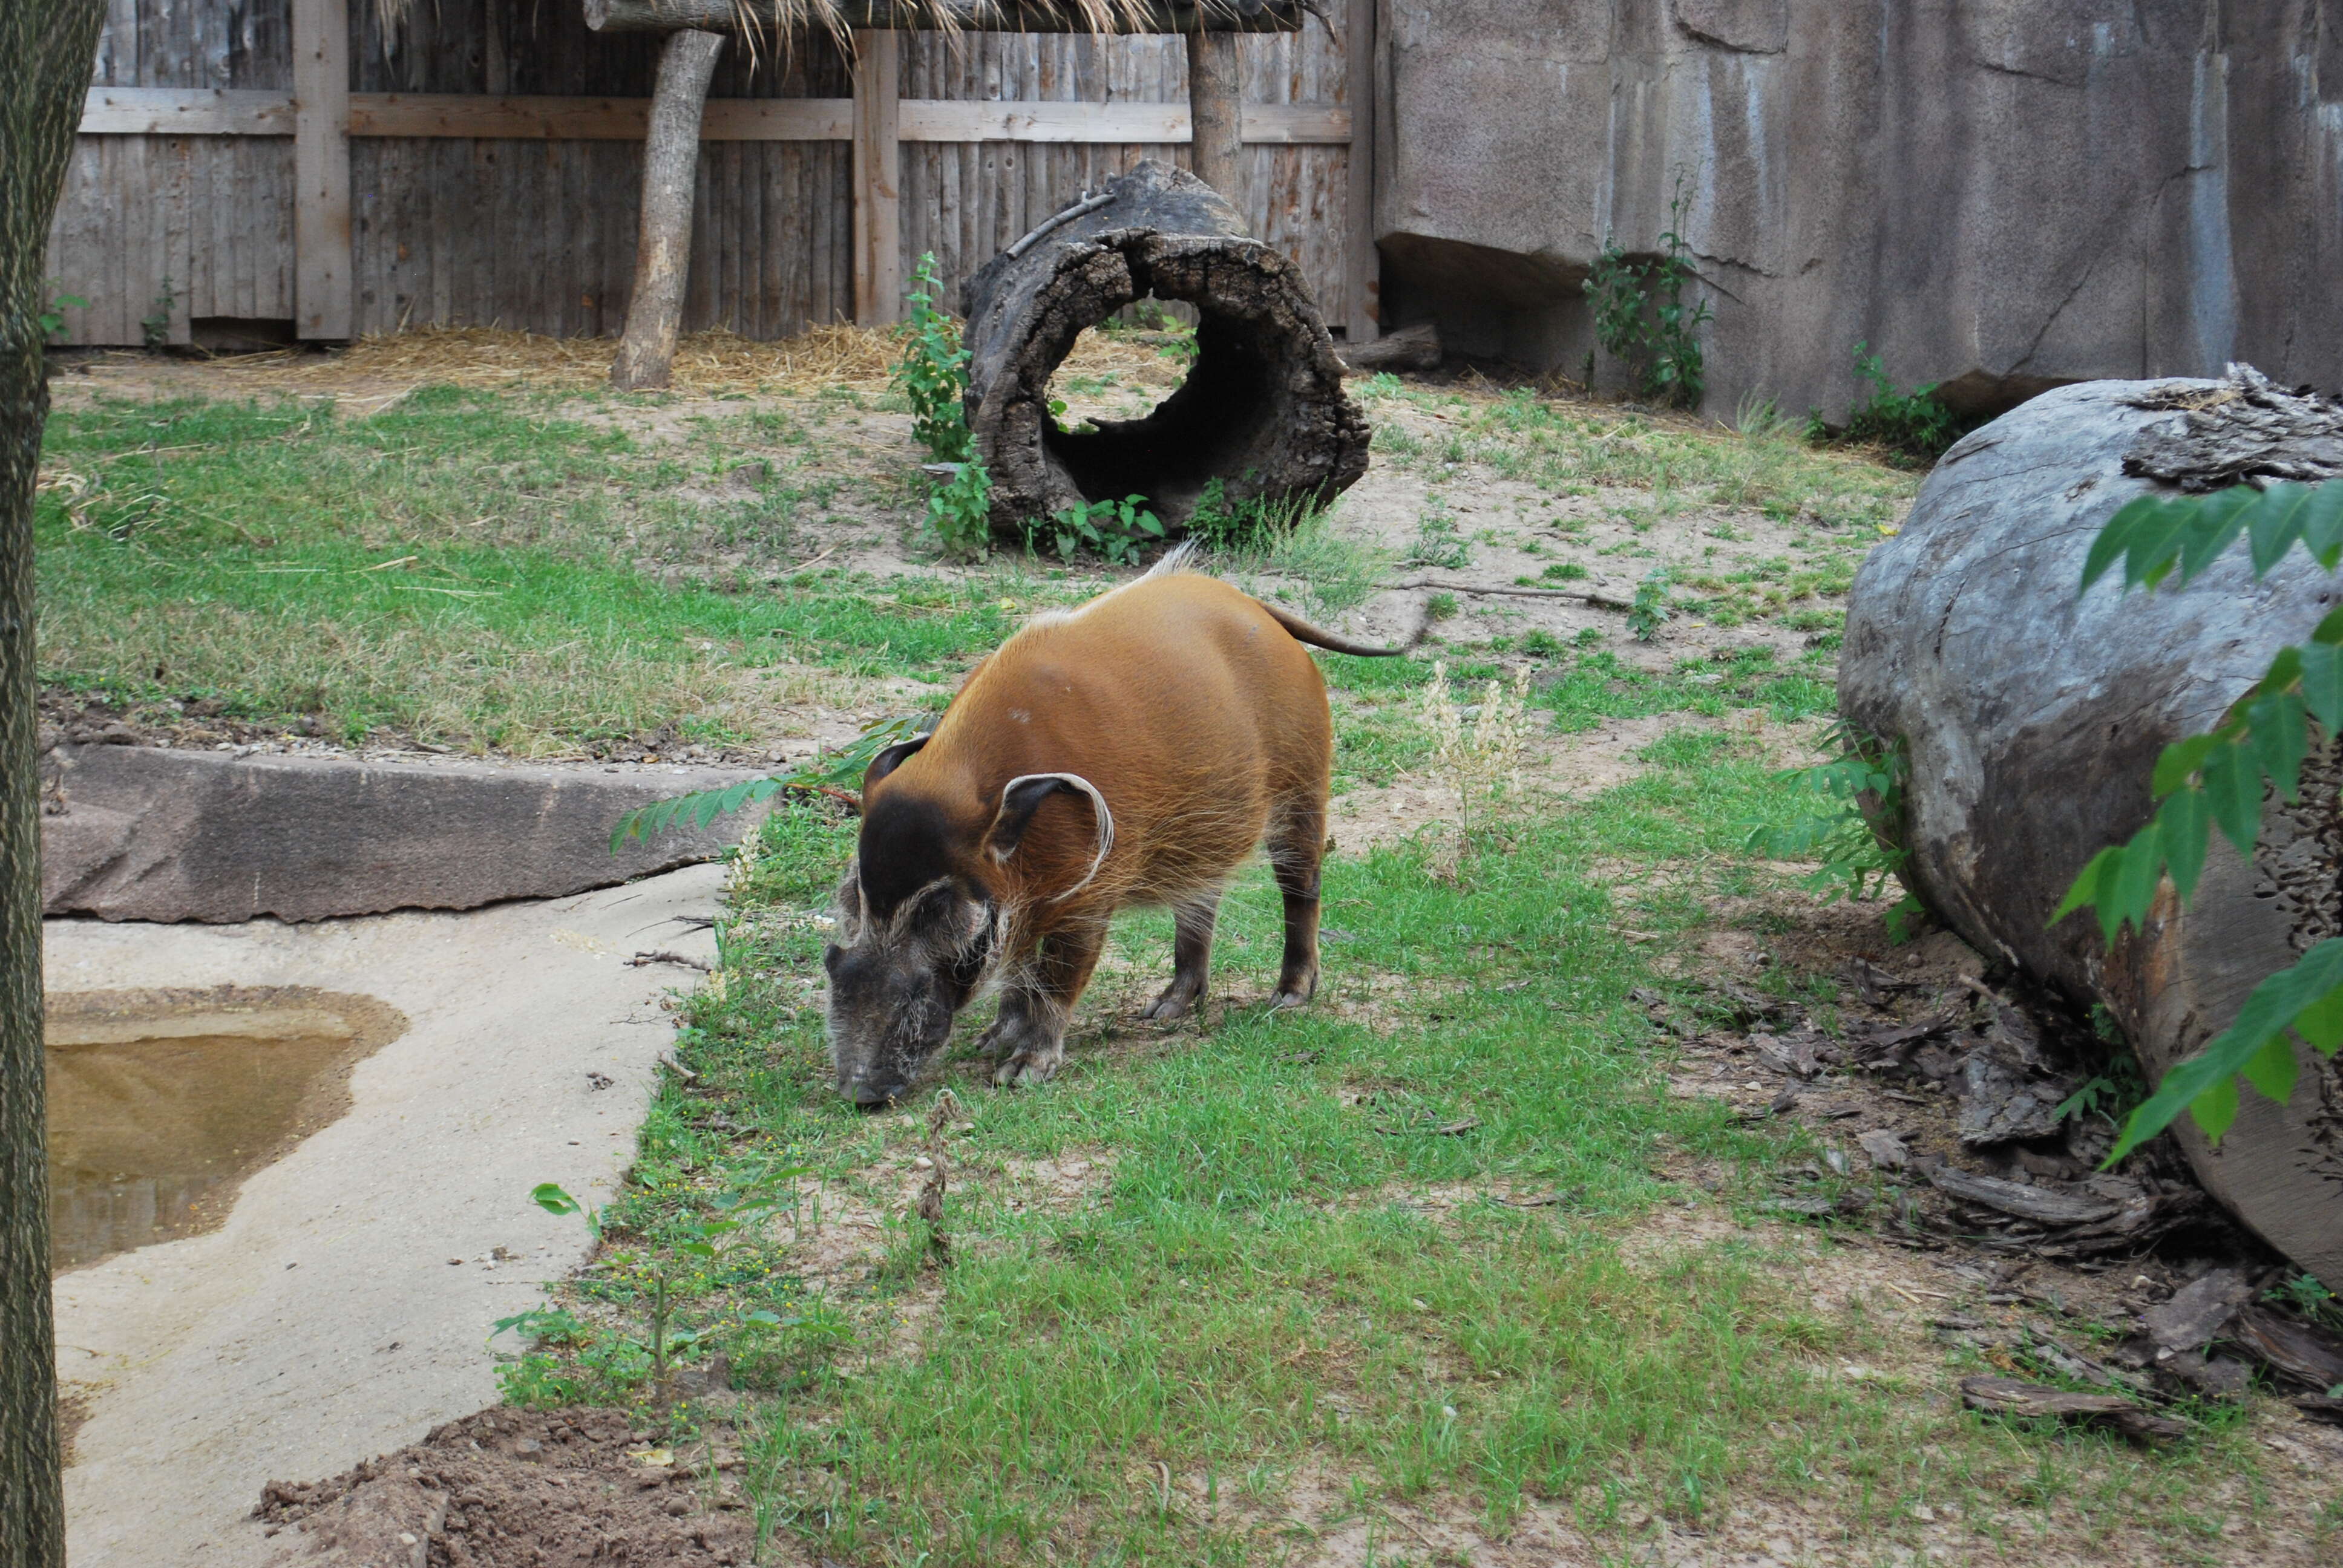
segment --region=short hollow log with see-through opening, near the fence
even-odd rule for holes
[[[1141,420],[1064,431],[1050,375],[1132,300],[1197,309],[1188,380]],[[1169,525],[1221,480],[1230,504],[1324,504],[1366,473],[1368,427],[1300,270],[1183,169],[1141,162],[984,263],[961,288],[968,429],[993,527],[1143,495]]]

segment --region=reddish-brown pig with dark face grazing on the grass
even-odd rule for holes
[[[839,1092],[900,1097],[954,1015],[1000,987],[993,1083],[1045,1083],[1115,909],[1169,905],[1172,984],[1204,994],[1221,888],[1268,844],[1286,905],[1272,1008],[1317,991],[1333,720],[1303,642],[1387,656],[1186,570],[1186,551],[1080,609],[1036,616],[935,731],[862,778],[839,884],[829,1050]]]

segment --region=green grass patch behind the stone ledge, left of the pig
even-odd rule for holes
[[[855,701],[851,677],[951,684],[1064,598],[1017,563],[972,586],[776,570],[790,518],[848,483],[785,466],[804,429],[747,415],[644,443],[455,389],[370,420],[201,401],[61,413],[45,464],[73,478],[35,513],[42,682],[312,715],[347,741],[541,755],[677,720],[759,741],[785,703]],[[743,499],[672,495],[747,462],[764,478]]]

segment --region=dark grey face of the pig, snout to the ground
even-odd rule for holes
[[[951,1036],[998,949],[998,909],[940,877],[893,909],[867,907],[860,865],[839,884],[829,970],[829,1057],[858,1106],[900,1099]]]

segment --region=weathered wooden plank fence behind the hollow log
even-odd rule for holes
[[[656,38],[576,0],[112,0],[49,234],[66,342],[197,323],[337,340],[403,326],[609,335],[635,270]],[[1343,35],[1242,40],[1239,206],[1328,326],[1375,335],[1373,0]],[[703,127],[684,326],[893,321],[921,253],[949,291],[1061,202],[1183,159],[1181,38],[860,33],[750,59]]]

